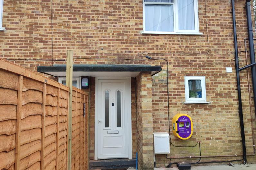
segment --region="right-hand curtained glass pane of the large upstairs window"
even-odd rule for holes
[[[194,0],[178,0],[179,30],[195,30]]]

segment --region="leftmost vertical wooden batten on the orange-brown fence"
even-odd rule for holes
[[[23,76],[18,79],[17,114],[16,114],[16,143],[15,143],[15,170],[20,169],[20,133],[21,133],[21,106],[22,106]]]

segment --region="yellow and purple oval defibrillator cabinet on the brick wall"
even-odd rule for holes
[[[189,115],[177,114],[173,117],[173,134],[182,139],[189,139],[193,134],[193,122]]]

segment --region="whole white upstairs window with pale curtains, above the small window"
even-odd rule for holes
[[[197,0],[144,0],[143,33],[199,34]]]

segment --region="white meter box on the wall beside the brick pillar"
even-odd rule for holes
[[[170,153],[170,136],[167,132],[155,132],[154,135],[154,153],[169,154]]]

